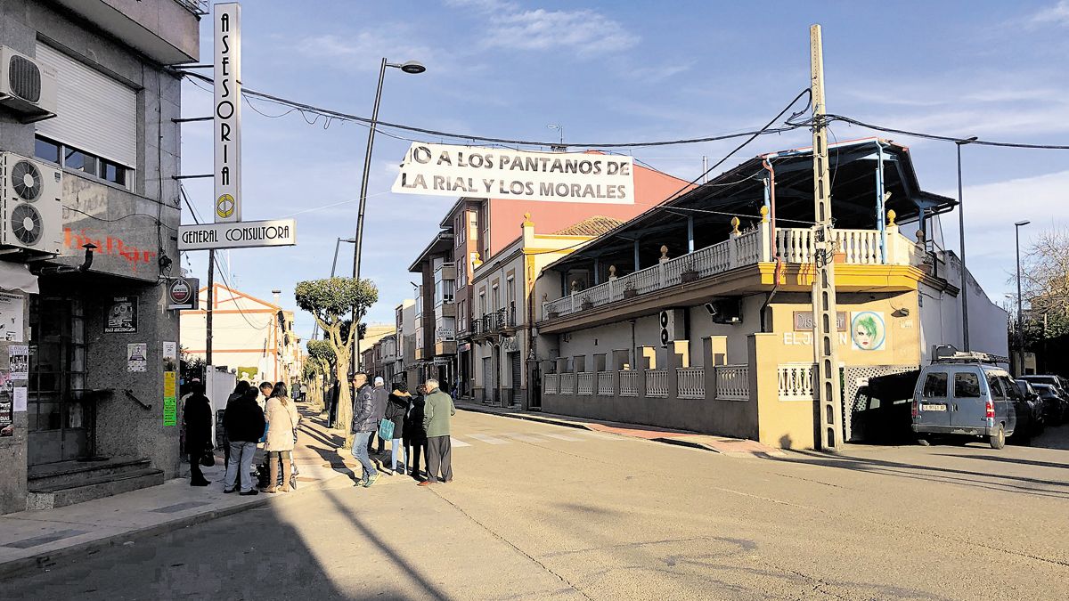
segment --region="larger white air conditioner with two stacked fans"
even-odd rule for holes
[[[59,255],[63,245],[63,171],[0,153],[0,246]]]

